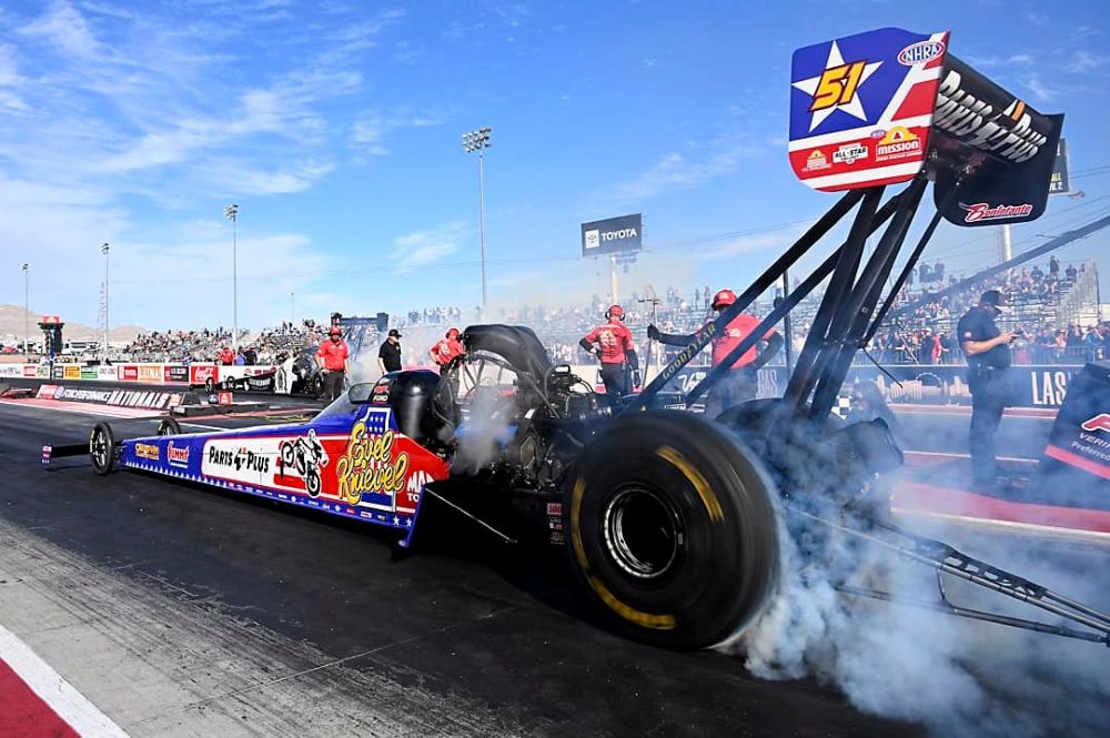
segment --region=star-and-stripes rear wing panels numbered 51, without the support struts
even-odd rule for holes
[[[950,223],[1032,221],[1062,127],[952,55],[947,31],[884,28],[794,52],[790,166],[825,192],[908,182],[928,164]]]

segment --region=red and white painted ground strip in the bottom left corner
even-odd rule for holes
[[[0,736],[127,738],[27,644],[0,625]]]

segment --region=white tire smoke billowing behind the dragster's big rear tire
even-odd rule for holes
[[[784,525],[779,536],[778,596],[731,648],[751,674],[816,677],[860,710],[922,724],[936,736],[1100,735],[1110,725],[1106,647],[838,593],[844,583],[935,603],[938,589],[935,574],[918,563],[783,515],[790,530]],[[956,535],[934,533],[941,539]],[[983,536],[959,547],[1106,609],[1110,576],[1102,552],[1074,554]],[[946,577],[946,589],[965,607],[1056,621],[952,577]]]

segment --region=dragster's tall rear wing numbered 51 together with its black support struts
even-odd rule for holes
[[[831,229],[856,210],[848,237],[790,295],[784,296],[731,354],[692,390],[709,390],[758,336],[831,276],[784,395],[823,423],[855,352],[874,335],[891,303],[882,287],[925,189],[934,181],[936,212],[912,247],[890,294],[897,294],[940,220],[961,226],[1036,220],[1045,211],[1063,115],[1046,115],[948,51],[947,31],[884,28],[798,49],[790,77],[789,160],[809,186],[844,192],[736,302],[629,402],[648,407],[656,394],[714,336],[776,283]],[[886,185],[909,183],[881,204]],[[858,209],[857,209],[858,205]],[[882,230],[865,259],[864,245]]]

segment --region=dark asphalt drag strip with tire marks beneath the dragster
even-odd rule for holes
[[[616,638],[557,558],[465,522],[402,557],[311,510],[83,457],[41,468],[43,443],[95,421],[0,405],[0,625],[132,736],[924,735],[813,681]]]

